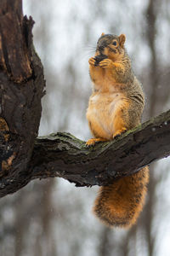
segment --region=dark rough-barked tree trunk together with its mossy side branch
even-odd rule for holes
[[[45,82],[33,20],[23,17],[21,0],[3,0],[0,9],[1,197],[35,178],[105,185],[170,154],[170,111],[94,148],[66,133],[36,138]]]

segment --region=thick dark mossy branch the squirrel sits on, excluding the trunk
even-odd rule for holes
[[[68,133],[39,137],[31,179],[64,177],[77,186],[105,185],[170,154],[170,110],[108,143],[85,143]]]

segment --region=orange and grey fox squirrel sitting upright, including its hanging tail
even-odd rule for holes
[[[96,142],[110,141],[139,125],[144,108],[144,93],[133,74],[124,48],[126,37],[102,33],[94,57],[89,59],[90,78],[94,84],[89,98],[87,119]],[[123,177],[99,189],[94,213],[105,224],[129,228],[144,206],[148,166],[132,176]]]

